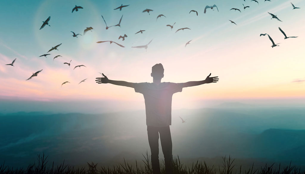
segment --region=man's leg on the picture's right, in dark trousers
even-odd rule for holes
[[[165,172],[166,174],[172,174],[173,145],[170,135],[170,126],[160,128],[159,132],[162,151],[164,155]]]

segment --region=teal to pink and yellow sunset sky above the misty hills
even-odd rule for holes
[[[165,69],[163,82],[199,81],[210,73],[211,76],[219,76],[217,83],[184,88],[181,93],[175,94],[173,105],[178,108],[192,108],[196,101],[206,99],[304,99],[305,44],[302,38],[305,36],[305,19],[302,16],[305,16],[305,2],[258,2],[1,2],[0,22],[5,27],[0,29],[0,99],[11,102],[88,101],[95,105],[98,105],[97,101],[120,101],[117,107],[130,107],[130,103],[143,107],[142,94],[128,87],[97,84],[95,78],[101,77],[98,73],[101,72],[111,80],[152,82],[151,67],[156,63],[162,63]],[[292,9],[290,2],[300,9]],[[122,11],[113,10],[121,4],[129,6]],[[219,12],[207,9],[204,14],[204,7],[213,4],[217,5]],[[242,4],[250,7],[244,10]],[[75,5],[83,9],[71,13]],[[238,8],[241,12],[231,8]],[[142,12],[145,9],[153,11]],[[190,10],[198,11],[198,16],[189,13]],[[268,12],[277,15],[283,22],[271,19]],[[166,17],[156,20],[160,14]],[[108,26],[116,25],[123,15],[121,27],[106,30],[101,15]],[[39,30],[48,16],[51,16],[50,26]],[[174,23],[172,30],[166,26]],[[84,35],[86,27],[93,27],[93,30]],[[191,30],[175,33],[183,27]],[[278,27],[287,36],[298,37],[284,39]],[[139,30],[145,31],[135,34]],[[72,37],[70,31],[83,36]],[[280,43],[279,46],[271,48],[267,35],[260,37],[265,33],[276,44]],[[125,40],[118,40],[124,34],[127,35]],[[147,50],[131,48],[151,40]],[[97,44],[97,41],[114,41],[125,47],[109,42]],[[61,44],[58,50],[49,52],[51,55],[39,57],[58,44]],[[56,55],[62,57],[53,61]],[[14,66],[5,65],[15,58]],[[70,60],[70,67],[63,64]],[[86,67],[74,69],[77,65]],[[38,76],[26,80],[41,69]],[[78,84],[86,78],[85,82]],[[65,81],[70,83],[61,87]]]

